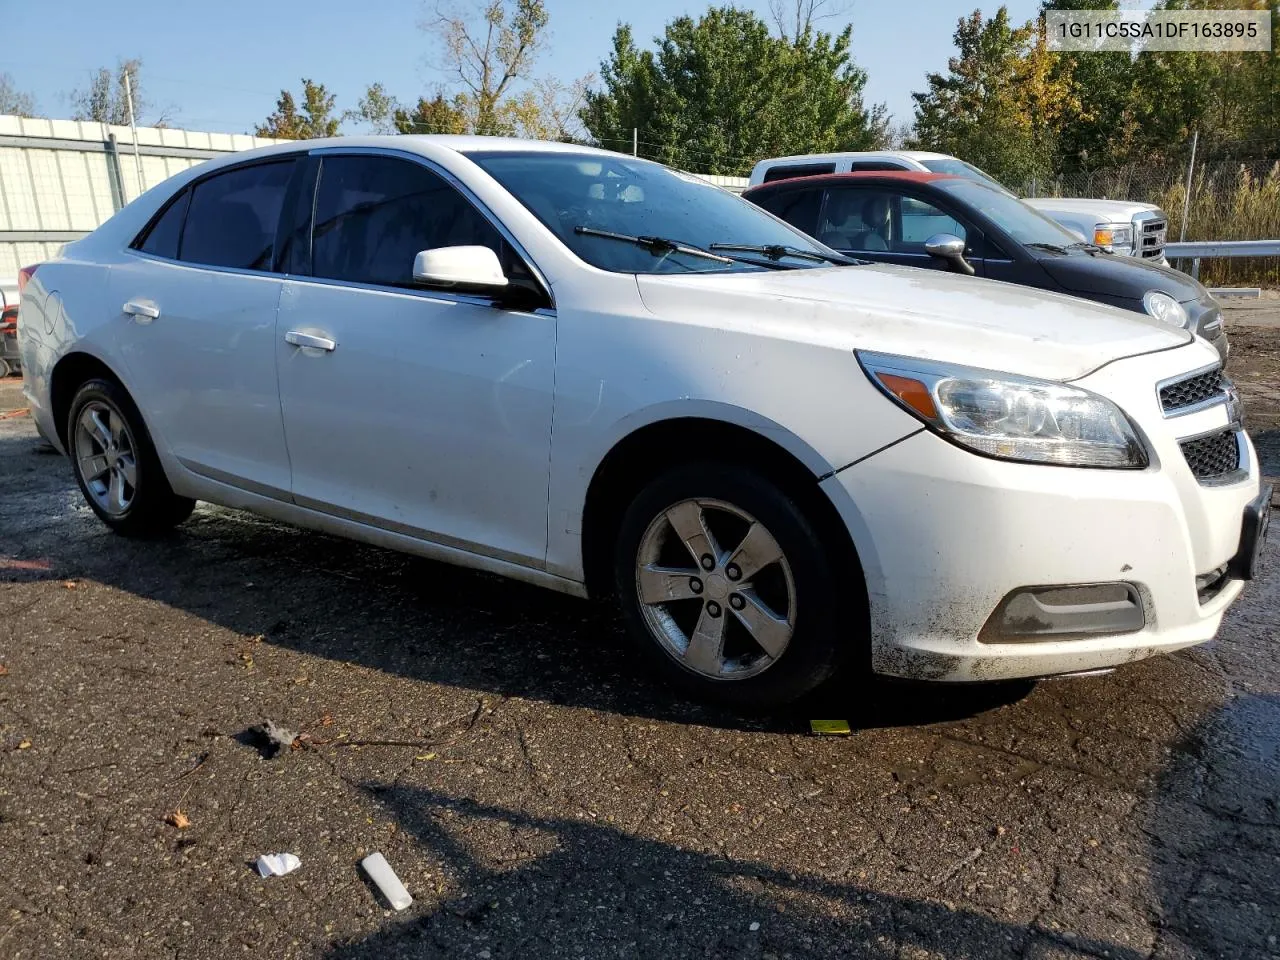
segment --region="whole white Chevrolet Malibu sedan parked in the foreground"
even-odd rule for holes
[[[23,287],[32,416],[116,531],[210,500],[614,594],[672,682],[739,704],[1198,644],[1266,530],[1203,340],[849,261],[630,156],[237,154]]]

